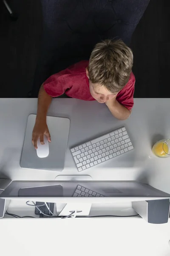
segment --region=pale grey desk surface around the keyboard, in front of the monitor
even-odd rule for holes
[[[28,115],[37,111],[37,99],[0,99],[0,177],[54,180],[57,175],[91,175],[94,180],[139,180],[170,193],[170,158],[157,158],[151,151],[156,140],[170,138],[170,99],[134,102],[130,118],[119,121],[98,102],[53,99],[48,115],[68,117],[71,123],[65,168],[62,172],[50,172],[20,167],[26,123]],[[133,142],[133,153],[78,172],[69,148],[123,125]]]

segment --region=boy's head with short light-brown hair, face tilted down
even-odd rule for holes
[[[100,103],[116,97],[127,84],[133,53],[123,41],[105,40],[96,44],[86,68],[91,95]]]

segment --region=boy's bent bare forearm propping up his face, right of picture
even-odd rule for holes
[[[108,106],[112,115],[117,119],[125,120],[130,116],[131,110],[128,110],[125,106],[121,105],[116,100],[116,97],[108,100],[105,104]]]

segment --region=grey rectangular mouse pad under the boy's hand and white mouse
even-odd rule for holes
[[[68,142],[70,120],[68,118],[47,116],[47,125],[51,135],[48,157],[40,158],[32,144],[32,131],[36,115],[28,116],[20,166],[27,169],[40,169],[62,172]]]

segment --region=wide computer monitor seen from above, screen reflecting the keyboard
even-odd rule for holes
[[[0,198],[59,203],[111,203],[170,198],[137,181],[12,181]]]

